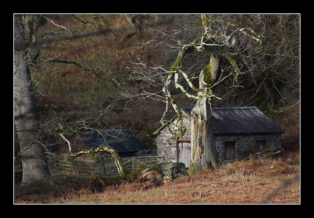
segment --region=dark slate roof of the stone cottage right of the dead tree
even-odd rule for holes
[[[188,114],[191,114],[192,108],[186,108],[184,110]],[[280,126],[262,113],[257,107],[213,108],[212,113],[213,134],[285,133]],[[162,128],[159,128],[159,130],[160,129]]]

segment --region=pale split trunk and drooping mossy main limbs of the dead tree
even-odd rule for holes
[[[202,17],[203,18],[203,17]],[[173,128],[175,131],[178,131],[179,134],[173,133],[178,139],[184,135],[185,127],[178,125],[179,121],[182,120],[181,110],[171,97],[169,91],[169,84],[172,78],[175,78],[176,88],[180,88],[181,91],[189,98],[197,99],[197,103],[192,110],[191,114],[191,161],[189,167],[189,173],[194,174],[199,170],[206,168],[215,168],[218,163],[218,158],[216,154],[216,149],[214,146],[213,133],[212,133],[212,110],[211,102],[213,97],[217,98],[213,93],[213,87],[211,87],[218,77],[219,73],[219,62],[220,62],[220,47],[221,45],[210,42],[209,51],[210,51],[210,61],[203,67],[203,70],[199,75],[199,87],[196,88],[191,83],[191,80],[188,78],[187,74],[181,68],[184,56],[195,50],[201,51],[204,50],[207,39],[209,39],[210,31],[208,27],[208,22],[206,18],[203,19],[203,25],[206,32],[206,38],[204,36],[201,39],[193,40],[193,43],[185,44],[182,49],[179,50],[179,54],[174,64],[171,67],[171,72],[168,76],[167,82],[164,86],[164,93],[167,96],[168,103],[170,103],[175,111],[177,112],[177,119],[173,122]],[[199,42],[200,43],[196,43]],[[205,41],[204,41],[205,40]],[[181,73],[183,78],[188,83],[189,87],[197,92],[197,96],[187,93],[182,85],[178,82],[178,75]],[[170,128],[169,128],[170,130]]]

